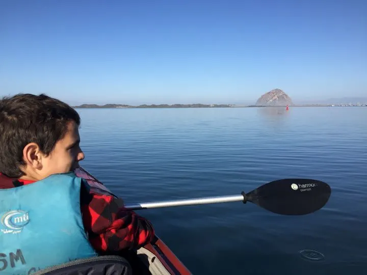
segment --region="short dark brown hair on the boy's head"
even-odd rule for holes
[[[0,172],[11,178],[24,175],[23,149],[34,142],[46,156],[61,140],[70,121],[80,116],[68,104],[45,94],[17,94],[0,100]]]

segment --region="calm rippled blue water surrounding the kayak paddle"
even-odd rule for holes
[[[238,195],[289,177],[331,186],[305,216],[249,203],[138,211],[194,274],[367,272],[367,107],[78,112],[83,166],[125,203]]]

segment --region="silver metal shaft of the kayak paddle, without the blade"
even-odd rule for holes
[[[233,196],[206,197],[197,199],[150,202],[150,203],[132,203],[132,204],[126,204],[125,208],[129,210],[140,210],[150,208],[163,208],[173,206],[200,205],[200,204],[226,203],[226,202],[243,202],[243,201],[244,201],[243,195],[233,195]]]

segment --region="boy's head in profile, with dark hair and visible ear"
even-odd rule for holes
[[[0,100],[0,172],[41,180],[67,173],[84,159],[80,117],[68,104],[44,94]]]

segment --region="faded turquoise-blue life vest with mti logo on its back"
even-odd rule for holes
[[[85,232],[73,173],[0,189],[0,274],[39,269],[97,256]]]

